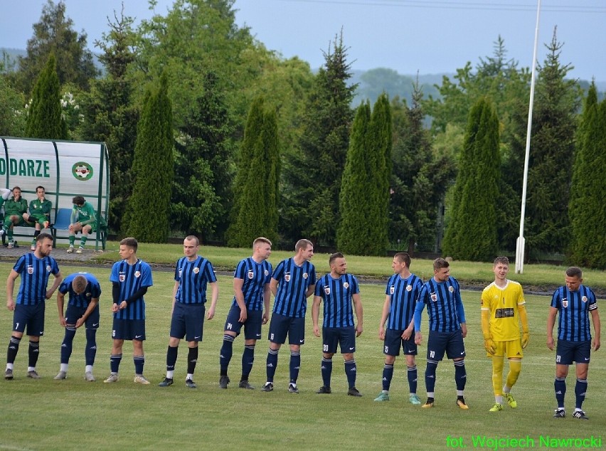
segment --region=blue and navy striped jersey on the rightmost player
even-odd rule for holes
[[[558,309],[558,340],[589,341],[590,310],[597,309],[595,294],[590,287],[579,285],[577,291],[559,287],[551,298],[551,307]]]

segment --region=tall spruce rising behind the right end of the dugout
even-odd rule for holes
[[[104,34],[95,46],[102,53],[99,60],[105,68],[105,77],[92,80],[90,92],[83,95],[80,108],[84,120],[80,136],[87,141],[102,141],[110,153],[110,214],[108,225],[119,235],[124,235],[122,219],[127,211],[128,198],[132,194],[132,162],[137,139],[139,110],[132,101],[134,85],[128,78],[134,54],[133,18],[115,14]]]

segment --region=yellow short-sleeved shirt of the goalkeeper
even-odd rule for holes
[[[492,282],[482,291],[482,310],[489,310],[489,331],[494,341],[520,339],[518,306],[524,304],[522,286],[507,280],[501,288]]]

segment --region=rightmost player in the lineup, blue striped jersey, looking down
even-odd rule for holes
[[[583,272],[571,266],[566,270],[566,285],[555,290],[551,298],[551,307],[547,317],[547,347],[553,351],[553,326],[558,321],[558,346],[555,349],[555,418],[564,418],[564,396],[566,394],[566,376],[568,367],[576,362],[577,383],[575,386],[574,418],[588,420],[583,411],[583,401],[587,392],[587,373],[591,349],[600,349],[600,314],[597,313],[597,301],[590,287],[582,285]],[[593,323],[593,339],[589,317]]]

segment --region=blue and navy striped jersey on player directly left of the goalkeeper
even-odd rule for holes
[[[454,332],[465,322],[461,290],[454,277],[446,282],[436,282],[432,277],[423,285],[417,302],[427,305],[430,331]],[[415,330],[419,330],[416,321]]]

